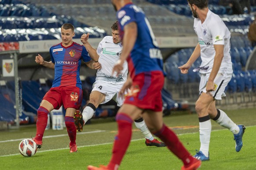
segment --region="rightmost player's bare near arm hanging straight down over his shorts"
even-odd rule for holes
[[[219,45],[219,44],[214,45],[214,49],[215,49],[215,57],[213,61],[212,71],[206,85],[206,91],[214,90],[213,81],[216,78],[216,75],[218,74],[219,67],[221,65],[221,62],[224,56],[224,45]]]

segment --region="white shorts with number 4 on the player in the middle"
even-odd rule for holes
[[[106,95],[105,100],[100,104],[107,103],[113,99],[117,102],[117,106],[122,106],[124,103],[124,96],[119,96],[122,87],[123,84],[111,84],[106,81],[96,80],[91,91],[98,91]]]

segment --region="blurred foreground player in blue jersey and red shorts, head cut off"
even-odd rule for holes
[[[129,75],[120,93],[129,88],[124,104],[118,110],[116,120],[118,134],[115,137],[112,158],[107,166],[88,166],[88,170],[117,170],[132,137],[132,122],[143,116],[146,125],[159,137],[168,149],[182,160],[182,170],[196,170],[201,161],[193,158],[179,141],[177,135],[163,123],[161,89],[164,85],[163,60],[154,33],[144,12],[131,0],[112,0],[117,11],[123,51],[113,67],[117,75],[128,61]],[[143,158],[142,158],[143,159]],[[161,169],[161,167],[156,167]]]

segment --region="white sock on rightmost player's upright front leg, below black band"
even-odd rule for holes
[[[211,138],[212,124],[211,120],[199,122],[199,137],[200,137],[200,151],[208,157],[209,156],[209,145]]]

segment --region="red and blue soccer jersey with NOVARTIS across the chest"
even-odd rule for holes
[[[55,64],[55,77],[52,87],[76,86],[82,88],[80,80],[81,58],[84,62],[91,60],[84,46],[74,43],[64,47],[59,43],[50,48],[51,62]]]

